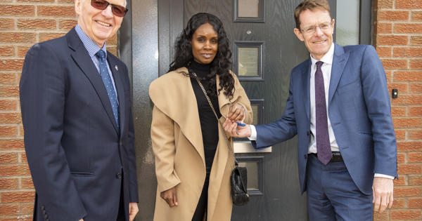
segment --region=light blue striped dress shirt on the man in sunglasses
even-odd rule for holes
[[[116,90],[115,82],[113,79],[113,74],[110,70],[110,65],[108,65],[106,43],[104,43],[102,48],[98,47],[98,45],[94,41],[92,41],[92,39],[90,39],[89,36],[87,36],[87,34],[85,34],[84,31],[82,31],[79,25],[76,25],[75,31],[77,35],[79,36],[79,39],[81,39],[82,43],[84,43],[84,46],[88,51],[89,57],[91,57],[92,62],[94,62],[94,65],[96,69],[98,70],[98,74],[100,74],[100,66],[99,66],[100,61],[98,60],[96,53],[100,50],[103,50],[104,53],[106,53],[106,63],[107,63],[108,74],[110,75],[111,82],[113,83],[113,87],[115,88],[115,93],[116,93],[116,98],[117,98],[117,90]],[[118,103],[119,101],[117,100],[117,104]]]

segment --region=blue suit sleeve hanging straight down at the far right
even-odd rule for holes
[[[373,46],[366,46],[361,73],[364,99],[372,125],[375,153],[373,173],[397,178],[397,143],[392,126],[390,95],[383,65]]]

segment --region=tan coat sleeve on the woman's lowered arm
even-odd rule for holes
[[[154,105],[151,123],[151,140],[155,155],[155,175],[157,175],[158,192],[175,187],[180,183],[174,170],[174,121]]]

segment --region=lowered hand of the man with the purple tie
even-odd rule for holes
[[[378,213],[383,213],[385,208],[391,208],[393,196],[393,182],[389,178],[373,178],[372,192],[373,192],[373,210]]]

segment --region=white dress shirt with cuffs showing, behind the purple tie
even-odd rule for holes
[[[324,88],[325,88],[325,94],[326,94],[326,108],[327,108],[327,120],[328,120],[328,135],[330,137],[330,143],[331,143],[331,151],[332,152],[339,152],[340,149],[338,148],[338,144],[335,140],[335,135],[333,131],[333,127],[331,126],[330,117],[328,116],[328,92],[330,88],[330,79],[331,79],[331,67],[333,65],[333,56],[334,56],[334,43],[331,44],[330,49],[328,52],[321,58],[321,62],[324,62],[324,64],[321,67],[322,75],[324,77]],[[316,132],[316,119],[315,119],[315,72],[316,72],[316,62],[319,60],[315,60],[311,57],[311,74],[310,74],[310,83],[309,83],[309,98],[310,98],[310,115],[311,115],[311,139],[309,140],[309,149],[308,153],[316,153],[316,140],[315,140],[315,132]],[[255,129],[255,126],[250,125],[250,137],[249,140],[257,140],[257,130]],[[382,178],[390,178],[394,179],[393,176],[390,175],[384,175],[380,173],[375,173],[374,177],[382,177]]]

